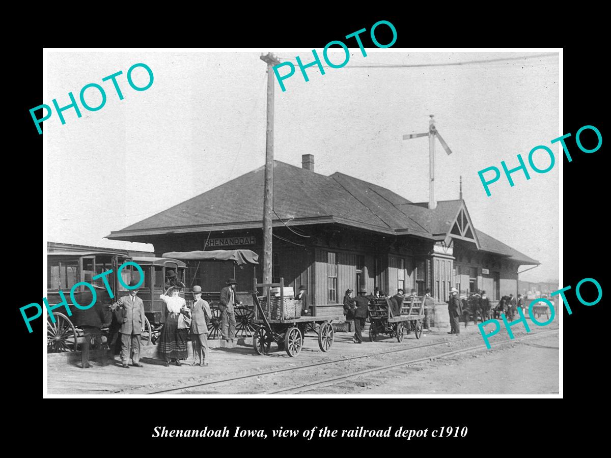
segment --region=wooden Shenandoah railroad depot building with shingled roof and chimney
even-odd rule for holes
[[[260,167],[107,238],[153,244],[156,256],[250,249],[262,262],[264,175]],[[348,288],[415,288],[419,296],[431,288],[434,325],[445,325],[452,286],[461,294],[485,289],[497,301],[516,294],[520,265],[539,264],[477,230],[462,198],[432,207],[343,173],[315,173],[312,154],[301,168],[274,161],[273,281],[306,285],[321,316],[342,316]],[[238,290],[249,291],[261,267],[190,261],[186,285],[219,291],[235,277]]]

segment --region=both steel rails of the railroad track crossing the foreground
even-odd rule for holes
[[[557,330],[558,330],[558,328],[554,328],[554,329],[546,330],[546,331],[530,332],[529,334],[526,334],[525,336],[519,336],[519,337],[514,338],[513,340],[507,340],[507,341],[495,343],[495,346],[497,346],[499,344],[503,344],[503,343],[510,343],[510,342],[520,341],[522,338],[525,338],[526,336],[544,335],[544,334],[547,334],[547,333],[555,332]],[[257,378],[257,377],[261,377],[261,376],[266,376],[266,375],[271,375],[271,374],[278,374],[278,373],[284,373],[284,372],[291,372],[291,371],[299,371],[301,369],[313,368],[313,367],[317,367],[317,366],[328,366],[328,365],[333,365],[335,363],[345,363],[345,362],[353,361],[353,360],[360,360],[360,359],[365,359],[365,358],[375,358],[375,357],[379,357],[381,355],[396,354],[396,353],[400,353],[400,352],[406,352],[406,351],[411,351],[411,350],[423,349],[423,348],[426,348],[426,347],[442,346],[442,345],[445,345],[445,344],[448,344],[448,343],[455,344],[455,343],[458,343],[458,342],[463,342],[463,341],[472,340],[472,339],[473,339],[473,336],[469,336],[469,337],[466,337],[466,338],[460,338],[460,339],[446,339],[446,340],[442,340],[442,341],[435,342],[435,343],[430,343],[430,344],[413,345],[413,346],[409,346],[409,347],[405,347],[405,348],[394,349],[394,350],[387,350],[387,351],[383,351],[383,352],[375,352],[375,353],[370,353],[370,354],[366,354],[366,355],[353,356],[353,357],[349,357],[349,358],[338,358],[338,359],[335,359],[335,360],[323,361],[323,362],[320,362],[320,363],[304,364],[304,365],[296,366],[296,367],[283,368],[283,369],[272,369],[272,370],[269,370],[269,371],[258,372],[258,373],[254,373],[254,374],[244,374],[242,376],[227,377],[225,379],[210,380],[208,382],[195,383],[195,384],[192,384],[192,385],[184,385],[182,387],[166,388],[164,390],[148,391],[145,394],[166,394],[166,393],[172,393],[173,391],[189,390],[191,388],[211,387],[211,386],[214,386],[214,385],[222,385],[224,383],[235,382],[237,380],[254,379],[254,378]],[[408,362],[401,362],[401,363],[397,363],[397,364],[393,364],[393,365],[389,365],[389,366],[382,366],[382,367],[379,367],[379,368],[366,369],[365,371],[357,371],[357,372],[354,372],[354,373],[344,374],[342,376],[331,377],[329,379],[324,379],[324,380],[318,380],[316,382],[302,383],[301,385],[295,385],[293,387],[282,388],[280,390],[266,391],[263,394],[285,393],[287,391],[294,391],[294,390],[300,390],[300,389],[303,390],[303,388],[310,389],[310,387],[315,387],[315,386],[323,385],[323,384],[329,385],[329,384],[332,384],[334,381],[346,380],[346,379],[349,379],[351,377],[358,377],[360,375],[368,374],[368,373],[373,373],[373,372],[376,372],[376,371],[383,372],[383,371],[387,371],[387,370],[390,370],[390,369],[393,369],[393,368],[399,367],[399,366],[405,366],[405,365],[415,364],[415,363],[423,362],[423,361],[427,361],[427,360],[434,360],[434,359],[437,359],[437,358],[448,357],[448,356],[451,356],[451,355],[460,354],[460,353],[469,352],[469,351],[474,351],[475,349],[481,349],[481,348],[486,348],[486,345],[485,344],[481,344],[481,345],[474,346],[474,347],[468,347],[467,349],[459,349],[459,350],[455,350],[455,351],[452,351],[452,352],[445,352],[445,353],[442,353],[442,354],[439,354],[439,355],[423,357],[423,358],[419,358],[417,360],[411,360],[411,361],[408,361]]]

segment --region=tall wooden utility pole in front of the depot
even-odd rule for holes
[[[272,53],[261,56],[268,64],[267,128],[265,139],[265,191],[263,194],[263,283],[271,283],[272,212],[274,205],[274,71],[280,61]],[[264,291],[265,294],[265,291]]]

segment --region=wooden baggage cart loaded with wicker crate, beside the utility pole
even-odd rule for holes
[[[258,288],[263,288],[266,295],[259,296]],[[276,294],[273,288],[277,288]],[[254,324],[258,328],[252,346],[258,355],[268,354],[271,343],[275,342],[279,351],[285,350],[290,357],[296,357],[301,352],[308,329],[318,334],[321,351],[331,349],[334,340],[331,322],[339,319],[338,316],[301,316],[301,301],[285,298],[284,278],[280,278],[280,283],[257,283],[255,278],[254,289]]]

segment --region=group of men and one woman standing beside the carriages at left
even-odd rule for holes
[[[170,272],[166,282],[166,290],[159,296],[164,302],[162,311],[163,327],[159,336],[157,351],[165,366],[174,363],[183,365],[188,358],[188,341],[191,340],[193,349],[193,361],[191,366],[208,366],[208,333],[212,314],[210,305],[202,299],[202,288],[195,285],[191,289],[193,302],[187,306],[186,300],[180,297],[180,292],[185,288],[184,283]],[[138,285],[137,280],[130,282],[130,288]],[[236,319],[235,307],[242,303],[236,300],[235,288],[237,282],[234,278],[227,280],[227,284],[221,289],[221,334],[222,338],[229,342],[235,340]],[[140,363],[141,334],[145,330],[144,303],[137,296],[139,289],[130,289],[129,294],[120,297],[108,309],[92,307],[81,314],[81,325],[84,330],[84,341],[81,346],[82,368],[87,369],[89,365],[90,346],[101,346],[101,328],[111,325],[108,338],[108,357],[114,359],[114,349],[120,342],[120,358],[123,368],[131,366],[142,367]],[[112,315],[114,315],[114,320]],[[114,323],[112,325],[111,323]]]

